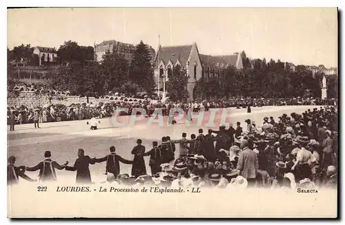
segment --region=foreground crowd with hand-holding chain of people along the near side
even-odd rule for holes
[[[77,184],[92,184],[90,164],[106,162],[107,182],[117,186],[337,188],[336,107],[265,117],[261,130],[250,120],[245,123],[237,122],[228,129],[221,126],[217,131],[208,129],[207,133],[199,129],[190,138],[187,133],[178,140],[162,137],[160,143],[152,142],[148,151],[138,139],[132,160],[119,156],[114,146],[103,158],[91,158],[78,149],[72,166],[52,160],[50,151],[34,167],[17,167],[16,158],[10,156],[8,184],[17,184],[19,177],[35,181],[26,171],[37,170],[41,182],[55,181],[55,169],[77,171]],[[149,157],[151,174],[146,170],[145,157]],[[120,162],[132,164],[130,174],[121,173]]]

